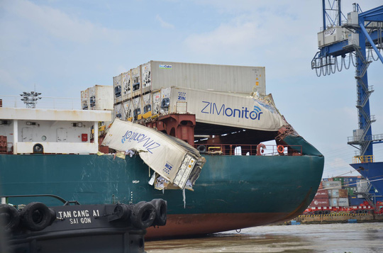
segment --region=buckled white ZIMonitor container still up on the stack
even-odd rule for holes
[[[271,95],[256,98],[172,87],[162,89],[161,96],[162,114],[187,112],[195,114],[200,123],[267,131],[279,130],[286,124]]]

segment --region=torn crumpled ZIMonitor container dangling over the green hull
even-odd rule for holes
[[[194,185],[205,159],[198,150],[175,137],[144,125],[116,118],[102,145],[115,150],[134,150],[141,159],[167,181],[184,189]]]

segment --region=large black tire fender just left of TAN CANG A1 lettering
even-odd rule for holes
[[[20,216],[23,226],[32,231],[43,230],[53,222],[50,208],[40,202],[31,202],[26,205],[21,210]]]

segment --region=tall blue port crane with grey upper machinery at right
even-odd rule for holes
[[[374,88],[368,85],[367,67],[372,60],[383,63],[380,53],[383,49],[383,6],[362,12],[358,4],[353,4],[353,11],[347,18],[340,10],[340,0],[333,0],[332,4],[330,0],[322,0],[322,6],[323,30],[318,33],[319,51],[311,61],[311,69],[315,69],[320,77],[341,71],[343,67],[348,69],[353,62],[359,128],[353,131],[352,137],[348,137],[348,144],[353,147],[359,145],[356,148],[360,155],[355,159],[374,162],[372,145],[383,142],[383,135],[372,135],[371,124],[375,117],[370,115],[369,99]]]

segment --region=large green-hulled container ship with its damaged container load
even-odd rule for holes
[[[324,157],[266,94],[264,67],[150,61],[110,89],[113,108],[91,89],[82,110],[0,108],[1,195],[89,205],[162,198],[167,224],[145,238],[279,223],[313,200]]]

